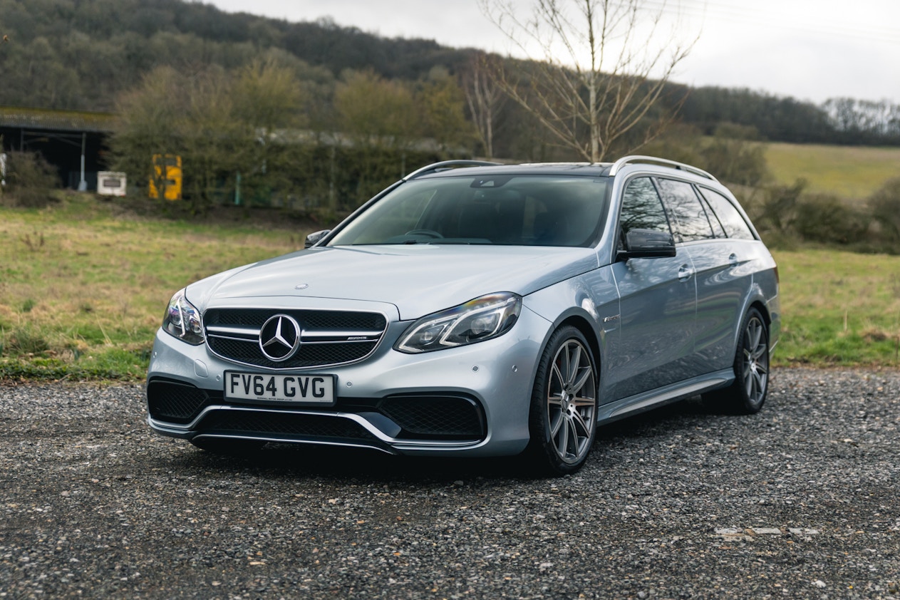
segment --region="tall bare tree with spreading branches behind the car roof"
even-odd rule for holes
[[[674,118],[678,102],[657,105],[697,38],[663,31],[666,0],[535,0],[530,16],[517,0],[479,4],[531,59],[507,61],[498,85],[561,146],[599,162],[640,148]]]

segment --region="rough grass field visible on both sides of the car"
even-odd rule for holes
[[[137,381],[173,292],[295,250],[306,233],[140,219],[77,194],[45,210],[0,207],[0,379]],[[900,257],[776,258],[779,363],[900,364]]]

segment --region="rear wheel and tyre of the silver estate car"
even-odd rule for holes
[[[703,395],[708,407],[738,415],[760,412],[769,393],[769,326],[757,309],[741,323],[734,353],[734,383]]]

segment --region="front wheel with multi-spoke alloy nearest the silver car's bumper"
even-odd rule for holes
[[[531,396],[528,467],[567,475],[581,469],[597,433],[597,364],[575,327],[551,336]]]

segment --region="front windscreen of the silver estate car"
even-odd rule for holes
[[[439,177],[401,184],[329,241],[590,246],[607,180],[561,175]]]

